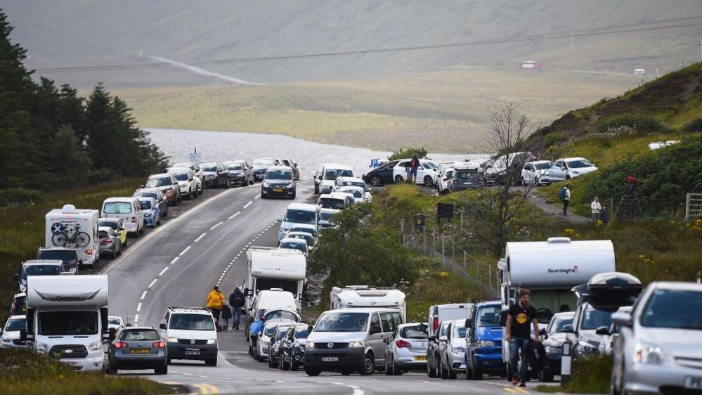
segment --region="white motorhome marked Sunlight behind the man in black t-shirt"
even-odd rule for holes
[[[615,271],[611,240],[573,241],[549,238],[543,242],[507,242],[500,269],[502,322],[520,288],[531,291],[540,325],[549,323],[554,313],[574,311],[578,299],[573,287],[587,283],[598,273]],[[502,334],[502,358],[509,361],[509,347]],[[511,377],[509,363],[507,377]]]

